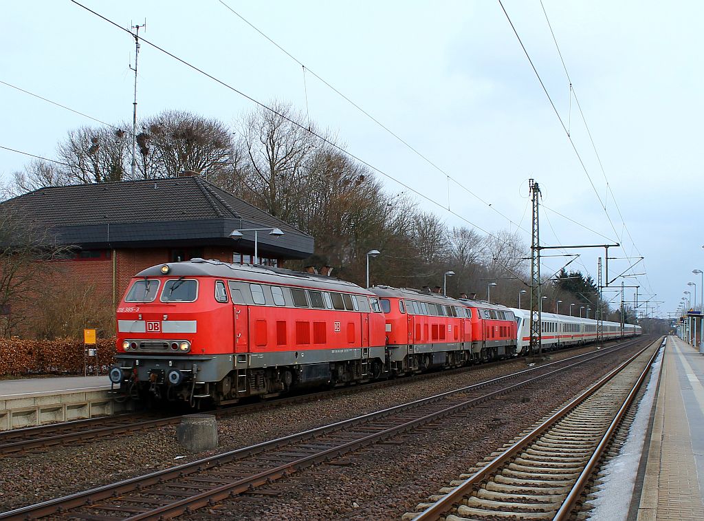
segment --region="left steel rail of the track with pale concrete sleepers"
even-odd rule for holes
[[[586,400],[586,398],[589,398],[589,396],[591,396],[593,393],[596,393],[596,391],[598,391],[605,384],[607,384],[608,381],[617,376],[617,374],[619,374],[624,368],[631,364],[631,362],[636,360],[636,358],[642,355],[646,350],[651,348],[656,342],[650,343],[645,348],[641,349],[638,353],[631,356],[628,360],[620,364],[619,367],[616,367],[611,372],[599,379],[599,381],[597,381],[595,384],[580,393],[579,396],[570,400],[570,402],[567,403],[565,407],[562,407],[553,415],[545,419],[537,427],[532,429],[532,431],[530,431],[528,434],[522,436],[520,440],[516,441],[515,443],[513,443],[513,445],[506,448],[503,453],[496,456],[496,458],[491,460],[491,462],[489,462],[487,465],[484,465],[484,467],[474,472],[474,474],[465,479],[465,481],[459,484],[455,489],[453,489],[453,491],[446,494],[446,496],[439,499],[439,501],[433,503],[432,506],[424,510],[422,513],[419,513],[417,516],[413,517],[413,521],[436,521],[446,515],[446,513],[453,508],[453,505],[460,503],[463,498],[470,496],[475,486],[484,482],[484,480],[489,478],[491,475],[496,474],[496,472],[501,469],[501,467],[503,467],[503,465],[505,465],[509,460],[511,460],[511,458],[513,458],[518,453],[522,452],[522,450],[529,446],[532,441],[537,439],[544,432],[548,431],[548,429],[553,427],[553,425],[560,422],[560,420],[564,418],[569,412],[578,407],[581,403],[584,402],[584,400]],[[655,357],[658,355],[659,352],[659,348],[655,350],[653,356],[650,357],[650,361],[648,362],[648,364],[646,364],[646,368],[643,370],[643,374],[646,374],[650,370],[650,365],[653,363],[653,360],[655,360]],[[644,377],[643,374],[641,374],[641,378]],[[639,381],[641,381],[641,378],[639,378]],[[589,477],[589,474],[587,474],[587,477]]]

